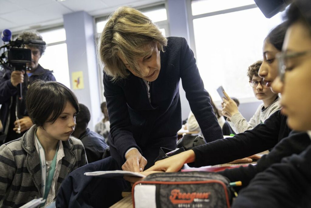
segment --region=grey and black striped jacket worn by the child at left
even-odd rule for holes
[[[32,126],[21,138],[0,147],[0,207],[20,207],[41,196],[40,159],[34,145]],[[65,157],[55,184],[57,192],[62,181],[73,170],[87,163],[80,140],[63,141]]]

